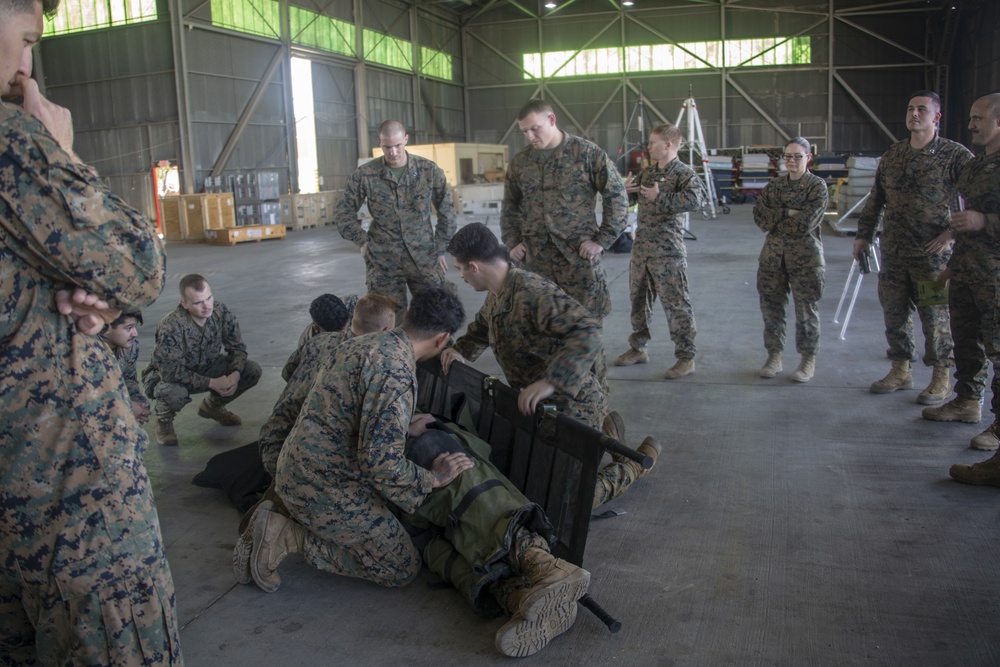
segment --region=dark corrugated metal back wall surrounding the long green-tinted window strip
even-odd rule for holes
[[[468,24],[472,136],[480,141],[499,141],[507,133],[512,150],[523,146],[516,129],[513,133],[508,129],[521,104],[539,96],[538,86],[543,85],[541,96],[554,103],[560,125],[591,137],[611,153],[622,145],[641,88],[653,122],[661,118],[675,121],[689,91],[693,93],[709,147],[775,145],[786,135],[802,134],[817,140],[821,149],[881,151],[891,140],[855,98],[863,100],[871,113],[900,137],[905,134],[907,96],[931,84],[932,63],[922,58],[927,50],[928,20],[933,17],[927,7],[893,8],[892,13],[880,15],[870,8],[862,11],[866,3],[845,0],[775,0],[724,7],[672,2],[657,3],[667,5],[659,9],[650,8],[649,2],[637,4],[631,11],[617,12],[608,11],[606,4],[579,0],[551,15],[540,10],[544,18],[503,7],[490,9]],[[776,7],[781,11],[774,11]],[[836,16],[834,69],[854,93],[835,81],[832,115],[828,110],[831,7]],[[549,78],[544,82],[526,80],[520,69],[523,55],[539,50],[774,35],[809,36],[811,64],[633,73],[604,80]],[[883,67],[875,67],[879,64]]]

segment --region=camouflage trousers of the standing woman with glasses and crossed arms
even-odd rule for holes
[[[757,269],[757,293],[764,318],[764,348],[785,349],[785,307],[788,294],[795,300],[795,350],[799,354],[819,352],[819,300],[826,276],[822,266],[791,269],[782,260],[761,261]]]

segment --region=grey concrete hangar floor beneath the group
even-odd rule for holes
[[[491,223],[496,225],[496,220]],[[948,478],[988,424],[920,418],[918,389],[875,396],[888,370],[874,277],[846,340],[831,320],[850,266],[850,238],[827,233],[823,344],[815,379],[757,377],[765,359],[755,289],[763,235],[749,206],[695,221],[689,278],[698,320],[697,373],[660,379],[673,363],[662,311],[651,362],[612,368],[611,404],[635,445],[664,445],[656,468],[594,520],[585,566],[591,592],[619,618],[610,634],[581,611],[536,657],[545,665],[996,665],[1000,617],[1000,490]],[[176,284],[205,275],[239,317],[261,383],[231,406],[240,427],[178,417],[181,445],[152,442],[154,480],[177,590],[188,665],[480,665],[502,620],[474,617],[426,572],[403,589],[313,570],[298,556],[265,594],[233,580],[239,513],[222,492],[190,484],[215,453],[256,439],[283,386],[280,369],[322,292],[364,291],[356,249],[333,228],[235,247],[175,244],[168,289],[146,313],[141,361]],[[627,255],[605,257],[615,312],[609,358],[629,333]],[[457,278],[452,271],[449,276]],[[464,283],[470,314],[483,296]],[[790,312],[791,315],[791,312]],[[791,315],[794,319],[794,316]],[[794,340],[790,326],[790,339]],[[922,345],[922,342],[920,343]],[[794,345],[790,343],[790,348]],[[479,368],[495,372],[491,357]],[[151,430],[151,429],[150,429]],[[993,628],[993,629],[991,629]]]

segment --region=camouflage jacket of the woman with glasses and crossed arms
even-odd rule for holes
[[[767,233],[761,261],[784,258],[799,268],[824,266],[821,225],[828,202],[826,181],[809,172],[797,181],[785,174],[768,183],[753,207],[753,221]],[[798,214],[790,216],[788,209]]]

